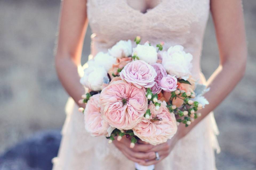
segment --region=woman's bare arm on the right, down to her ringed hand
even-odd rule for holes
[[[179,139],[189,133],[198,122],[225,99],[245,73],[247,48],[241,1],[211,0],[210,5],[220,57],[219,67],[207,81],[210,91],[205,94],[205,97],[210,104],[201,110],[202,116],[195,119],[190,126],[186,128],[181,124],[177,134],[169,142],[157,145],[150,150],[159,152],[161,160],[169,155]],[[144,165],[157,162],[151,160]]]

